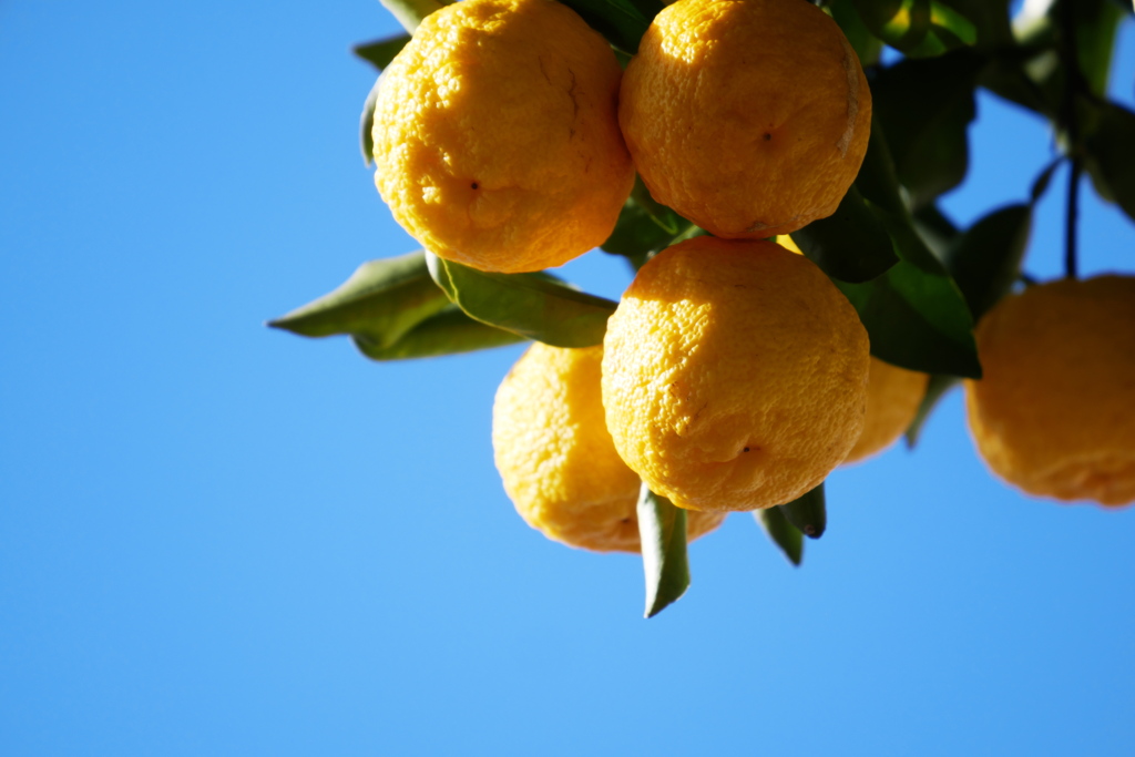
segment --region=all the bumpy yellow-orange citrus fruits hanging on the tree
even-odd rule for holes
[[[642,266],[602,347],[535,344],[502,385],[496,462],[530,524],[638,550],[641,481],[690,511],[695,538],[906,429],[928,377],[871,358],[856,310],[785,236],[835,211],[871,124],[855,51],[805,0],[680,0],[625,73],[554,0],[465,0],[422,22],[384,73],[372,140],[380,194],[429,252],[560,266],[611,235],[636,173],[695,225]],[[1130,303],[1129,278],[1061,281],[983,320],[969,414],[998,473],[1135,498],[1135,378],[1113,365],[1135,355]],[[1123,328],[1084,338],[1085,312]],[[1061,328],[1081,335],[1067,354]]]

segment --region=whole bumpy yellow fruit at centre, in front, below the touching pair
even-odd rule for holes
[[[623,295],[604,350],[615,448],[680,507],[791,502],[863,430],[867,333],[813,262],[771,242],[663,251]]]

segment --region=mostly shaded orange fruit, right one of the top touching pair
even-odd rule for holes
[[[871,133],[859,58],[804,0],[679,0],[623,76],[619,120],[658,202],[716,236],[835,212]]]

